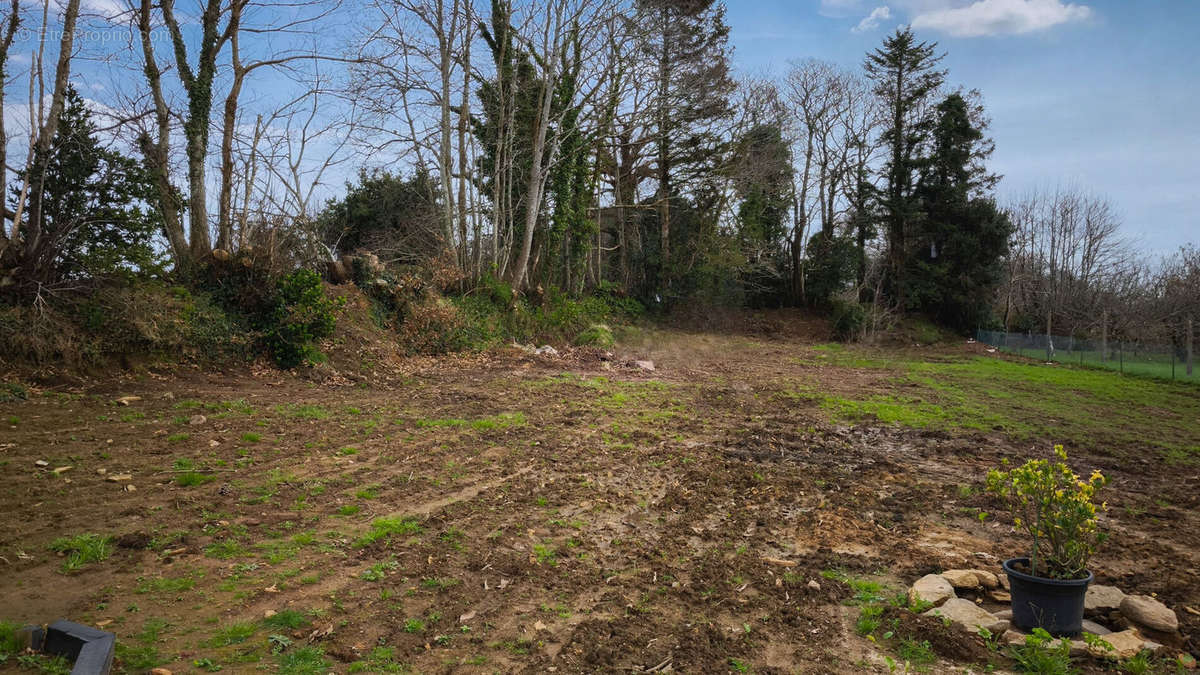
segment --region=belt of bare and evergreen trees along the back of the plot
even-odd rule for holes
[[[26,25],[62,30],[18,61]],[[1200,317],[1196,249],[1147,259],[1086,187],[997,202],[984,94],[936,43],[772,77],[731,50],[713,0],[12,0],[0,334],[168,282],[271,335],[295,270],[506,309],[808,306],[846,338],[922,315],[1178,342]],[[103,102],[77,90],[97,62]]]

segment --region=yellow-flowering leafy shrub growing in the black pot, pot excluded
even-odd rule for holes
[[[1034,459],[1010,471],[989,471],[988,491],[1008,503],[1013,524],[1033,538],[1032,575],[1084,579],[1088,558],[1108,538],[1099,525],[1105,504],[1097,507],[1093,497],[1109,480],[1099,471],[1085,480],[1067,466],[1062,446],[1054,453],[1057,461]]]

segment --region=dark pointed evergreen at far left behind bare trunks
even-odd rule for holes
[[[162,219],[157,190],[136,160],[101,145],[91,113],[67,88],[44,167],[42,235],[20,261],[29,282],[149,274],[160,270],[154,240]],[[18,173],[24,178],[23,173]],[[16,208],[19,191],[10,202]]]

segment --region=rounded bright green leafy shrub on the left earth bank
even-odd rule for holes
[[[312,270],[298,269],[281,279],[266,329],[266,344],[275,362],[282,368],[295,368],[322,360],[314,342],[334,334],[337,324],[334,312],[344,303],[344,298],[326,298],[320,277]]]

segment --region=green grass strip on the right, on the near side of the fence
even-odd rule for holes
[[[1116,372],[944,351],[881,352],[823,345],[817,358],[839,369],[884,371],[883,392],[817,394],[836,419],[875,418],[912,428],[1003,431],[1052,438],[1102,454],[1152,449],[1172,462],[1200,462],[1194,441],[1200,388]]]

